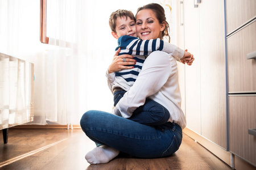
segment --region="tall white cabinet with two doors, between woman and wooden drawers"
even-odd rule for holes
[[[185,66],[187,128],[226,148],[223,1],[184,1],[184,44],[195,57]]]

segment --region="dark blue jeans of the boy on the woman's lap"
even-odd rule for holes
[[[114,92],[114,106],[117,105],[118,101],[125,93],[126,91],[124,90]],[[129,119],[144,125],[162,125],[165,124],[169,118],[170,113],[163,105],[147,98],[145,104],[135,109]]]

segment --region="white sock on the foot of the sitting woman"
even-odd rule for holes
[[[104,164],[110,162],[115,156],[119,154],[118,150],[115,150],[109,146],[96,147],[92,151],[85,155],[85,159],[90,164]]]

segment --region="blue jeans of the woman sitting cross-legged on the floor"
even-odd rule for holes
[[[182,130],[175,123],[148,126],[102,111],[84,113],[80,125],[92,141],[138,158],[174,154],[182,140]]]

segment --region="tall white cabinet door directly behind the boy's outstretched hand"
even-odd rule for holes
[[[192,66],[185,65],[185,115],[187,128],[201,134],[199,8],[184,1],[184,46],[194,55]]]

